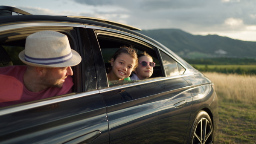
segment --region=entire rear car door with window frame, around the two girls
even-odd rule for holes
[[[182,143],[192,97],[189,85],[178,68],[177,75],[166,76],[161,55],[155,46],[137,40],[139,37],[134,38],[130,34],[121,35],[119,33],[122,32],[113,29],[90,28],[93,28],[87,29],[90,39],[98,40],[99,43],[93,47],[94,55],[102,52],[98,62],[106,64],[104,57],[110,55],[109,52],[113,55],[114,48],[127,44],[140,51],[150,52],[154,56],[153,60],[158,60],[154,78],[112,87],[108,86],[106,71],[102,70],[107,67],[96,66],[96,73],[101,73],[104,80],[97,84],[101,87],[99,91],[107,105],[110,143]]]

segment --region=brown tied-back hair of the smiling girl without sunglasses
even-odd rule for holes
[[[131,58],[135,59],[135,66],[134,66],[134,69],[137,68],[138,66],[138,57],[137,57],[137,52],[136,50],[132,47],[132,46],[122,46],[120,47],[116,52],[115,54],[111,57],[111,59],[113,58],[113,60],[115,61],[116,58],[121,55],[122,53],[124,54],[128,54],[131,56]],[[112,70],[112,68],[110,67],[108,69],[108,72],[110,72]]]

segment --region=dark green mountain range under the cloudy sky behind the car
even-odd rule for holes
[[[183,58],[256,58],[256,42],[234,40],[218,35],[192,35],[180,29],[143,30]]]

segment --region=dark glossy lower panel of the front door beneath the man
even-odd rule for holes
[[[72,99],[67,101],[68,97]],[[95,142],[108,143],[106,105],[101,95],[84,93],[63,99],[1,115],[0,143],[64,143],[94,131],[101,132]]]

